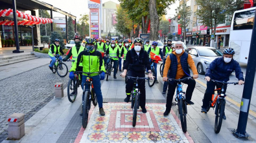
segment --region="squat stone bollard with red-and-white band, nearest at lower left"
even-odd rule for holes
[[[8,139],[19,140],[25,135],[25,114],[13,113],[8,118]]]

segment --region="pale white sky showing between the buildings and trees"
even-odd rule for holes
[[[49,3],[50,5],[53,5],[56,8],[60,8],[64,12],[71,13],[72,15],[75,15],[78,19],[80,19],[80,14],[89,14],[89,8],[87,5],[87,0],[40,0],[45,3]],[[102,3],[106,3],[110,0],[102,0]],[[115,3],[119,3],[118,0],[111,0]],[[176,3],[169,6],[169,10],[167,9],[167,15],[165,17],[168,19],[169,17],[174,17],[175,14],[175,8],[179,6],[179,1],[176,0]],[[65,17],[63,14],[59,14],[58,12],[53,12],[53,17]]]

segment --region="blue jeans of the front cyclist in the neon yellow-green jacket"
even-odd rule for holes
[[[82,85],[84,85],[84,83],[86,83],[86,75],[82,76]],[[93,77],[91,77],[91,79],[93,79],[93,89],[94,92],[96,94],[97,100],[98,100],[98,104],[99,104],[99,108],[102,108],[102,102],[103,102],[103,98],[102,98],[102,93],[100,90],[100,75],[95,75]],[[82,89],[84,90],[84,86],[82,86]],[[86,89],[89,89],[89,86],[86,85]]]

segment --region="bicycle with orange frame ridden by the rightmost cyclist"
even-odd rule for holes
[[[211,80],[213,82],[217,82],[217,84],[222,84],[222,88],[218,88],[215,91],[217,91],[217,95],[214,99],[215,94],[212,95],[212,99],[210,101],[210,106],[207,108],[207,111],[209,111],[210,108],[215,108],[215,133],[220,133],[220,128],[222,126],[222,119],[224,116],[224,110],[225,110],[225,104],[226,104],[226,94],[224,93],[224,85],[225,84],[239,84],[238,82],[222,82],[222,81],[216,81]],[[214,100],[213,100],[214,99]]]

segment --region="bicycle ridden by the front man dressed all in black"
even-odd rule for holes
[[[136,126],[136,120],[137,120],[137,110],[139,109],[139,97],[140,97],[140,91],[138,86],[138,79],[147,79],[146,77],[130,77],[127,76],[127,79],[132,79],[134,81],[134,88],[132,90],[132,126]]]

